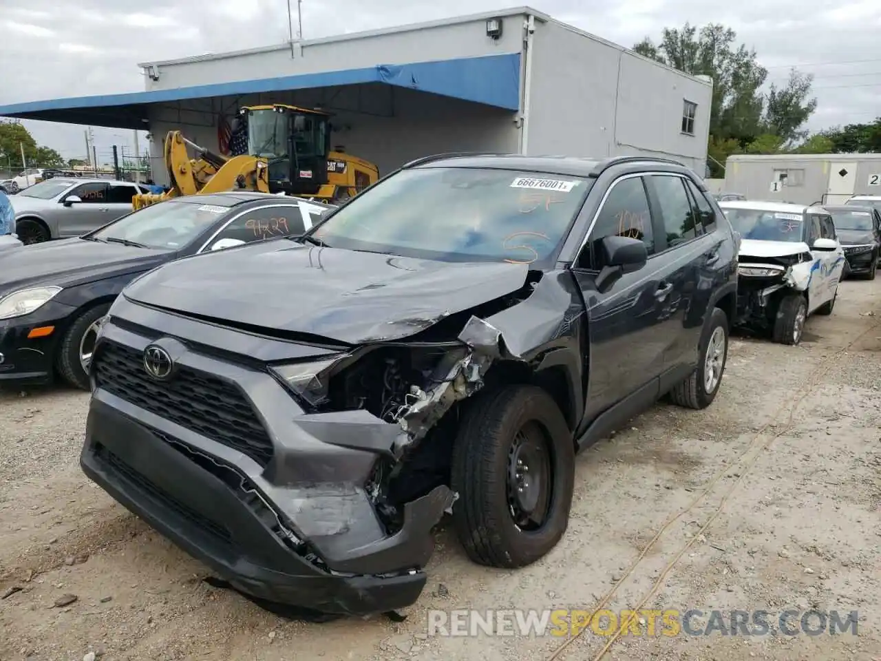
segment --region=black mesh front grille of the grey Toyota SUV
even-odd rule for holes
[[[140,352],[108,341],[95,355],[93,374],[98,387],[130,404],[237,449],[263,466],[272,458],[269,434],[230,382],[183,366],[170,381],[155,381],[144,370]]]

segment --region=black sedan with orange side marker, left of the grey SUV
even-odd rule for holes
[[[88,390],[101,320],[138,274],[178,257],[302,234],[329,208],[261,193],[179,197],[78,238],[5,250],[0,387],[43,384],[61,375]]]

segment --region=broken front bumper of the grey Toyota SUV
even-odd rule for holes
[[[174,380],[185,382],[188,409],[171,398],[173,382],[144,380],[147,345],[112,321],[102,331],[81,456],[90,479],[255,598],[356,615],[418,598],[431,529],[453,494],[438,486],[408,502],[400,530],[386,530],[366,483],[396,426],[366,412],[304,416],[270,375],[184,349]],[[211,379],[234,390],[204,390]],[[203,416],[196,430],[196,416],[212,405],[222,427]],[[248,427],[246,413],[263,429]],[[261,431],[269,455],[254,450]]]

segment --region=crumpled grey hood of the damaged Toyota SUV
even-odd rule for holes
[[[148,305],[346,345],[405,338],[515,292],[524,264],[437,262],[287,240],[167,264],[123,290]]]

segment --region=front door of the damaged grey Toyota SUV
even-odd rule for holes
[[[645,241],[648,264],[600,292],[596,276],[603,256],[597,244],[615,234]],[[664,279],[666,261],[654,258],[655,234],[643,178],[626,175],[613,182],[573,269],[588,309],[586,420],[593,420],[663,371],[668,341],[658,331],[669,318],[664,314],[674,286]]]

